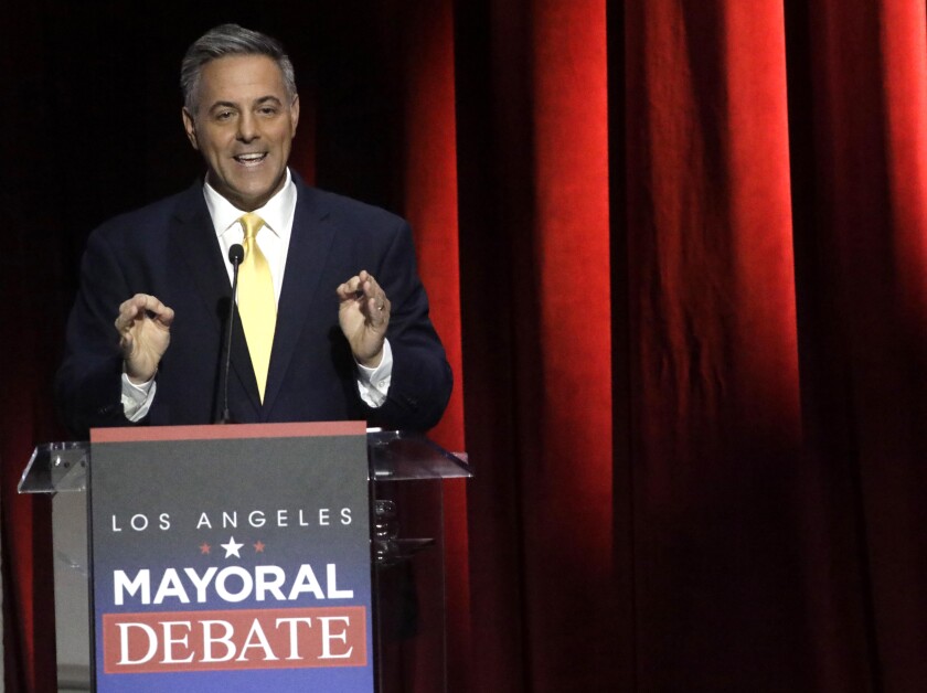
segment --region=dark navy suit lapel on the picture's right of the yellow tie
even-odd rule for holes
[[[302,184],[296,175],[294,179],[297,184],[296,213],[292,220],[284,286],[277,307],[277,329],[274,333],[270,372],[267,376],[265,412],[271,409],[274,399],[284,383],[309,314],[307,306],[312,303],[317,291],[330,290],[333,297],[335,289],[335,287],[319,286],[334,239],[334,228],[328,221],[327,210],[317,203],[312,189]],[[332,310],[337,310],[333,298]]]

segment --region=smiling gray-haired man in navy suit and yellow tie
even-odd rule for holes
[[[226,397],[237,423],[434,426],[451,376],[408,225],[289,171],[299,96],[280,45],[217,26],[188,51],[181,86],[205,181],[90,235],[56,382],[68,427],[207,424]]]

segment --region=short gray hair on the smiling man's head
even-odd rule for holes
[[[200,76],[206,63],[226,55],[266,55],[277,63],[284,75],[287,95],[296,96],[296,73],[284,46],[276,39],[238,24],[221,24],[210,29],[187,50],[180,65],[180,88],[183,105],[195,115],[200,97]]]

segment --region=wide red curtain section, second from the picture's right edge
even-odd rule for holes
[[[626,22],[637,684],[805,690],[782,8]]]

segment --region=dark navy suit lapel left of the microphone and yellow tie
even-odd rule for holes
[[[215,339],[227,339],[224,324],[228,316],[232,288],[228,286],[228,274],[223,264],[222,249],[203,199],[202,183],[194,184],[178,205],[171,234],[174,247],[181,248],[183,269],[192,279],[196,294],[203,301],[205,312],[210,316],[215,330]],[[221,353],[224,353],[224,346]],[[232,373],[248,394],[252,406],[255,411],[259,411],[257,381],[237,309],[232,334]],[[221,385],[220,382],[219,386]]]

